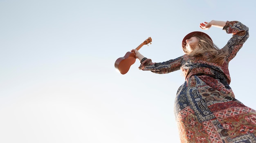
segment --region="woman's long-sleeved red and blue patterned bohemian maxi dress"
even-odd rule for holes
[[[181,143],[256,143],[256,111],[236,100],[229,87],[229,61],[248,39],[249,28],[227,21],[223,30],[233,34],[221,49],[228,52],[223,65],[209,62],[209,54],[185,54],[163,63],[141,60],[139,69],[157,74],[181,69],[185,76],[175,98]]]

